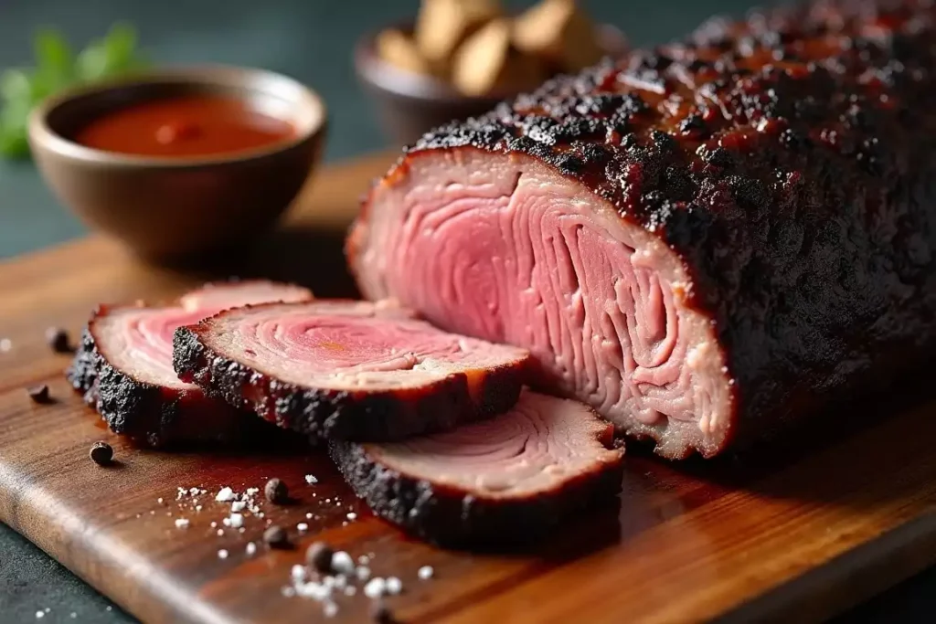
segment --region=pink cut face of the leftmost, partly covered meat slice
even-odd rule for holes
[[[172,370],[172,336],[178,327],[247,304],[311,297],[305,288],[289,284],[245,282],[219,284],[180,298],[179,307],[118,308],[95,318],[92,331],[110,364],[141,382],[192,390]]]

